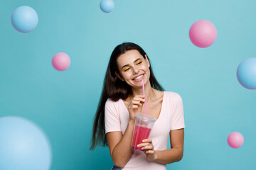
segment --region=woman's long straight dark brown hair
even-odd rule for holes
[[[129,86],[125,81],[121,81],[114,73],[119,72],[117,67],[117,58],[129,50],[137,50],[144,57],[144,59],[146,59],[146,52],[144,52],[142,47],[139,47],[139,45],[132,42],[124,42],[114,48],[114,51],[110,57],[110,62],[107,66],[102,94],[95,114],[92,130],[92,143],[90,147],[91,150],[95,149],[97,145],[107,146],[107,135],[105,135],[105,103],[107,98],[111,98],[112,101],[118,101],[120,98],[124,100],[132,94],[131,86]],[[156,81],[156,77],[154,77],[151,64],[149,71],[149,81],[151,87],[159,91],[164,91],[158,81]]]

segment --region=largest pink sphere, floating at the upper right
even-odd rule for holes
[[[217,30],[210,21],[196,21],[189,30],[189,38],[197,47],[209,47],[215,42],[216,37]]]

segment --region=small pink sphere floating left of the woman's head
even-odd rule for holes
[[[59,52],[53,56],[52,64],[58,71],[64,71],[70,67],[70,57],[64,52]]]

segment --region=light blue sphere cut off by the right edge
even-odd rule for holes
[[[251,57],[242,61],[237,70],[239,83],[246,89],[256,89],[256,58]]]

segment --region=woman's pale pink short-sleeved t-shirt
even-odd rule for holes
[[[129,112],[124,101],[119,99],[114,102],[108,98],[105,104],[105,132],[121,131],[124,134],[128,120]],[[167,149],[170,130],[181,128],[185,128],[181,96],[164,91],[159,118],[149,135],[153,141],[154,150]],[[166,170],[166,165],[148,162],[143,152],[134,150],[124,169]]]

